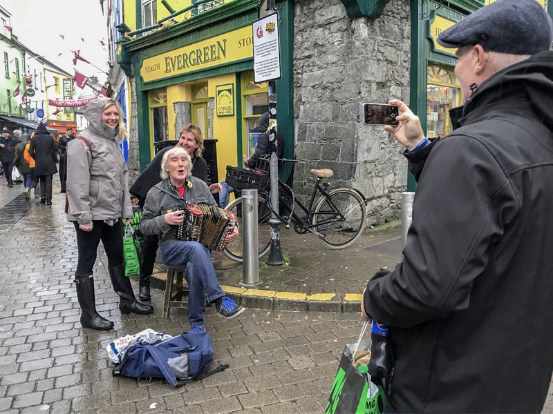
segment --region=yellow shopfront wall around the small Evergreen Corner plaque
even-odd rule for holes
[[[219,181],[223,181],[227,175],[227,165],[236,166],[236,123],[241,121],[236,118],[236,76],[234,74],[221,75],[207,79],[207,90],[210,98],[215,97],[217,85],[234,85],[234,115],[213,117],[213,137],[217,140],[217,173]]]

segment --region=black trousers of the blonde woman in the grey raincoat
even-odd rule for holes
[[[50,176],[51,177],[51,176]],[[123,231],[121,220],[118,220],[113,226],[109,226],[102,220],[93,220],[92,231],[83,231],[79,229],[79,224],[74,221],[77,231],[77,250],[79,257],[77,259],[77,270],[75,274],[82,276],[92,275],[92,268],[96,262],[97,248],[102,240],[106,256],[108,257],[108,267],[114,268],[123,264]]]

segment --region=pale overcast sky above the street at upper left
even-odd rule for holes
[[[88,77],[97,76],[100,83],[106,81],[107,29],[100,0],[0,0],[0,4],[12,14],[12,33],[30,50],[71,75],[78,70]],[[74,66],[71,50],[80,50],[97,68],[83,61]]]

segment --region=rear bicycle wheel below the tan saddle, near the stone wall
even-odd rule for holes
[[[329,248],[350,246],[363,233],[366,221],[364,199],[350,188],[334,188],[315,206],[312,228]]]

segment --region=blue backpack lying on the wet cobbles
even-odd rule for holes
[[[188,331],[158,344],[129,346],[112,374],[133,378],[165,378],[171,386],[182,386],[209,377],[228,364],[209,371],[213,361],[212,339],[208,332]]]

